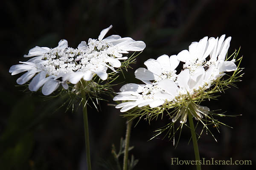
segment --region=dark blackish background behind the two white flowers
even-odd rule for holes
[[[204,170],[253,169],[256,164],[255,123],[255,22],[254,0],[6,0],[1,3],[1,62],[0,62],[0,169],[1,170],[82,170],[84,167],[84,133],[81,108],[64,113],[56,109],[61,99],[42,97],[40,93],[23,92],[16,87],[16,79],[9,68],[23,58],[30,48],[53,48],[66,39],[76,48],[88,38],[97,38],[103,28],[111,24],[108,35],[119,34],[143,40],[146,48],[134,70],[125,73],[126,79],[135,82],[134,71],[144,67],[147,59],[162,54],[177,54],[193,41],[204,36],[231,36],[229,53],[240,47],[243,55],[243,81],[221,94],[219,100],[203,102],[212,110],[222,109],[227,115],[242,114],[236,118],[218,118],[233,127],[221,127],[219,134],[210,127],[211,135],[203,134],[199,140],[201,157],[216,160],[251,160],[253,165],[208,165]],[[124,83],[123,83],[124,84]],[[118,91],[121,85],[116,86]],[[119,109],[101,102],[102,111],[89,108],[90,147],[93,170],[102,170],[104,162],[111,159],[111,145],[119,147],[125,136],[125,119]],[[170,120],[141,121],[132,128],[131,154],[139,159],[135,170],[181,170],[192,166],[171,165],[171,158],[193,160],[190,132],[183,129],[175,149],[172,141],[161,138],[148,141],[153,130]],[[104,160],[104,161],[103,161]],[[122,158],[120,159],[122,160]]]

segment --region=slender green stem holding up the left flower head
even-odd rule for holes
[[[85,138],[87,170],[91,170],[89,128],[88,128],[87,106],[86,106],[85,98],[83,99],[82,104],[83,104],[83,117],[84,117],[84,138]]]

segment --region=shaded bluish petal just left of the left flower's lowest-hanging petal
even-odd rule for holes
[[[41,71],[36,75],[32,81],[29,83],[29,90],[30,91],[38,91],[39,88],[44,85],[45,82],[47,82],[46,73],[44,71]]]

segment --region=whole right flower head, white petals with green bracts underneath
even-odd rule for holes
[[[116,108],[121,108],[121,112],[130,110],[125,116],[146,116],[149,121],[167,111],[172,119],[171,125],[178,119],[181,124],[186,123],[189,113],[196,120],[201,121],[205,117],[218,125],[208,115],[210,109],[199,103],[215,98],[214,93],[224,91],[242,76],[241,68],[235,64],[241,62],[241,58],[236,59],[238,53],[230,56],[233,57],[231,61],[228,61],[230,57],[226,58],[231,37],[225,41],[224,37],[204,37],[199,42],[192,42],[189,51],[183,50],[170,57],[162,55],[156,60],[148,59],[144,62],[147,69],[135,71],[135,77],[144,84],[123,85],[113,100],[125,102]],[[183,70],[177,71],[180,64],[183,64]],[[233,75],[224,79],[226,72],[231,71],[234,71]]]

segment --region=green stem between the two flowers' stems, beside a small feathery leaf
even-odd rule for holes
[[[131,136],[131,125],[132,120],[127,120],[126,125],[126,135],[125,135],[125,153],[124,153],[124,164],[123,164],[123,170],[128,169],[128,152],[129,152],[129,143],[130,143],[130,136]]]

